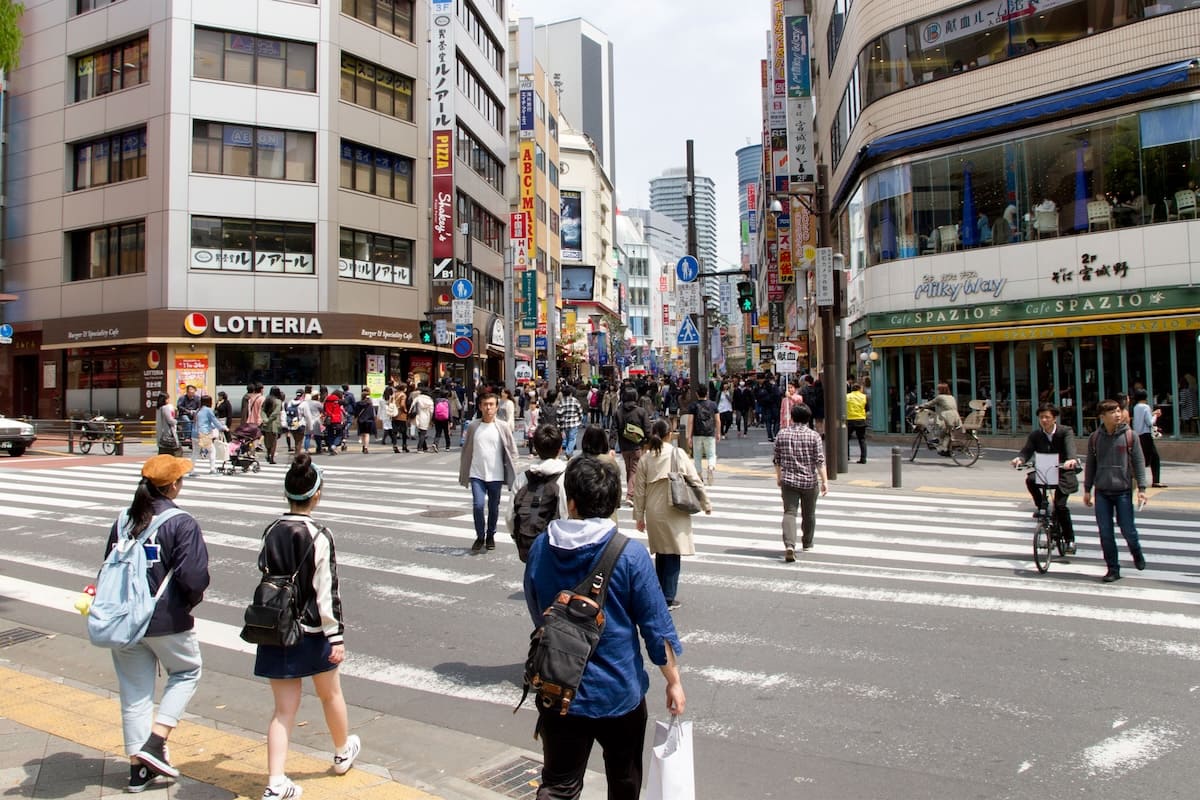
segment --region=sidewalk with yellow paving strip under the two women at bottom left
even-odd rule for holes
[[[0,618],[0,794],[126,796],[130,765],[110,656],[82,637],[46,631]],[[210,650],[206,658],[214,666],[169,740],[181,777],[146,789],[145,798],[262,796],[270,690],[265,681],[218,672],[226,662],[218,651]],[[306,799],[534,798],[540,752],[362,706],[350,705],[349,718],[364,750],[354,769],[336,776],[320,704],[311,685],[305,687],[287,772]],[[533,715],[522,715],[516,724],[532,735]],[[529,744],[538,747],[532,738]],[[589,771],[584,800],[605,795],[604,775]]]

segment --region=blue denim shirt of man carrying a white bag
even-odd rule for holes
[[[556,528],[598,525],[605,530],[589,543],[574,549],[551,543]],[[590,573],[616,530],[611,519],[556,519],[545,536],[534,540],[524,576],[526,606],[534,626],[541,625],[542,612],[559,591],[574,589]],[[618,717],[637,708],[650,687],[638,632],[655,664],[667,663],[667,642],[676,654],[683,652],[650,554],[641,542],[631,540],[617,559],[604,614],[604,633],[583,672],[570,716]]]

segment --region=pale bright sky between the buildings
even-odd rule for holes
[[[770,5],[514,0],[510,14],[535,24],[582,17],[608,36],[620,207],[649,206],[649,180],[683,167],[686,140],[694,139],[696,172],[716,184],[718,255],[738,264],[734,152],[761,137],[758,62]]]

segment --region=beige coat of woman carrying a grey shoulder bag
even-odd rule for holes
[[[677,452],[678,451],[678,452]],[[695,555],[691,539],[691,515],[677,511],[671,505],[671,481],[667,473],[678,471],[695,489],[704,513],[712,513],[713,504],[704,491],[704,482],[696,474],[696,467],[685,452],[664,441],[662,450],[642,450],[634,474],[634,522],[638,530],[644,524],[650,553]]]

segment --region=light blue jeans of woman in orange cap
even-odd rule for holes
[[[167,685],[155,716],[154,684],[160,664],[167,672]],[[196,631],[148,636],[137,644],[113,650],[113,667],[121,693],[125,752],[132,756],[150,738],[151,722],[168,728],[179,726],[200,680],[200,644]]]

